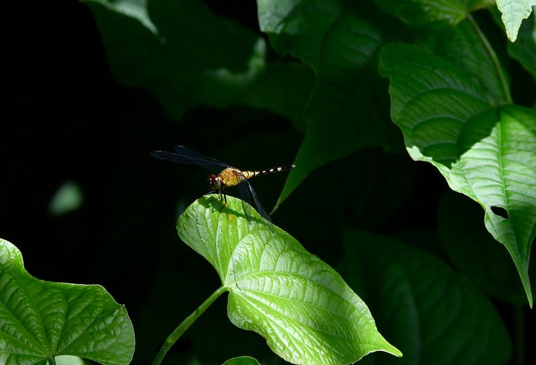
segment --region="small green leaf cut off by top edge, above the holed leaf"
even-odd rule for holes
[[[479,8],[493,4],[493,0],[375,0],[386,13],[422,29],[443,30],[461,22]]]

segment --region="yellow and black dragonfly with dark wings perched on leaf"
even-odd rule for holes
[[[167,152],[167,151],[151,151],[149,154],[153,157],[160,158],[165,161],[172,161],[175,163],[182,163],[186,165],[198,165],[211,170],[214,173],[209,174],[207,178],[207,184],[209,185],[209,193],[218,192],[218,198],[222,204],[221,209],[227,204],[227,195],[225,195],[225,189],[230,188],[231,186],[238,186],[240,190],[240,195],[242,197],[242,206],[244,207],[244,213],[248,218],[248,221],[251,223],[251,215],[249,214],[249,205],[244,204],[244,202],[250,203],[249,195],[253,196],[253,201],[257,207],[257,211],[260,216],[265,218],[267,221],[271,222],[270,216],[266,213],[265,209],[262,208],[259,198],[253,186],[249,182],[249,179],[252,177],[273,174],[275,172],[283,172],[292,170],[295,165],[281,165],[273,167],[267,170],[239,170],[236,167],[232,167],[227,163],[216,160],[215,158],[204,156],[193,149],[189,149],[184,146],[175,146],[174,150],[176,153]]]

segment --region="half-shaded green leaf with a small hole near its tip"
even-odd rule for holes
[[[380,72],[391,81],[392,119],[410,156],[432,163],[454,191],[482,205],[486,228],[512,256],[532,305],[536,111],[496,106],[472,77],[419,47],[389,45],[381,57]],[[497,214],[500,209],[506,215]]]

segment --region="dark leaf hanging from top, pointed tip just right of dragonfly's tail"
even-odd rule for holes
[[[363,12],[355,1],[258,1],[260,28],[271,45],[304,61],[317,76],[297,167],[278,204],[315,168],[363,147],[388,144],[392,126],[375,72],[382,36]]]

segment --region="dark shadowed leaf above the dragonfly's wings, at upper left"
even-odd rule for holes
[[[267,63],[255,31],[202,1],[82,1],[96,17],[115,77],[152,91],[175,119],[199,104],[245,103],[301,120],[311,71]]]

